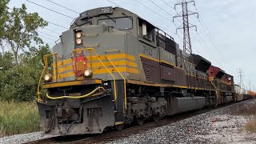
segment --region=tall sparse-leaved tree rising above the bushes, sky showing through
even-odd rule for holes
[[[10,50],[14,54],[15,63],[18,64],[18,53],[25,47],[30,48],[31,42],[42,44],[42,39],[38,37],[38,28],[47,26],[38,13],[27,13],[26,6],[15,8],[9,14],[6,22],[6,41],[10,45]]]

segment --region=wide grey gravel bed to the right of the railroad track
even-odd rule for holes
[[[107,143],[256,143],[256,134],[244,130],[253,118],[232,114],[241,106],[256,105],[256,99],[211,110],[167,126],[157,127]],[[255,119],[255,118],[254,118]]]

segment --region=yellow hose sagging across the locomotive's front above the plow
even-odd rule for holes
[[[89,97],[91,94],[93,94],[92,95],[92,97],[94,97],[94,96],[96,96],[96,95],[98,95],[98,94],[103,94],[103,92],[101,91],[101,89],[102,90],[104,90],[104,92],[106,92],[106,90],[103,88],[103,87],[97,87],[96,89],[94,89],[93,91],[91,91],[90,93],[88,93],[88,94],[84,94],[84,95],[81,95],[81,96],[60,96],[60,97],[51,97],[48,93],[46,94],[46,97],[47,98],[50,98],[50,99],[62,99],[62,98],[86,98],[86,97]],[[100,93],[98,93],[98,94],[94,94],[94,92],[95,91],[97,91],[97,90],[99,90],[100,91]]]

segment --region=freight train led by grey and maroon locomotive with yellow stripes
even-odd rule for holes
[[[46,134],[101,134],[244,99],[232,75],[120,7],[79,14],[43,59],[37,104]]]

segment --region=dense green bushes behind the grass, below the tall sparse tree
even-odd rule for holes
[[[4,70],[0,70],[0,98],[6,101],[32,101],[36,98],[38,80],[42,74],[43,58],[45,54],[50,54],[50,47],[31,47],[29,51],[20,54],[19,65],[11,65]],[[10,53],[9,53],[10,54]],[[4,56],[5,63],[12,63],[11,55]],[[0,58],[0,66],[2,59]]]

